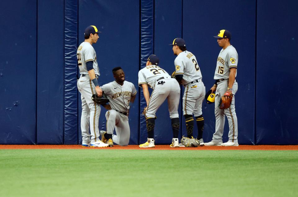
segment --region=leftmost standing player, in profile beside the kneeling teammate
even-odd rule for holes
[[[80,70],[80,78],[77,82],[82,100],[82,146],[84,147],[107,147],[108,144],[99,140],[98,118],[100,114],[100,106],[95,103],[91,97],[93,94],[102,96],[102,89],[99,87],[97,79],[100,75],[98,64],[96,61],[96,53],[92,44],[96,43],[101,33],[96,26],[88,26],[85,29],[85,40],[77,50],[78,66]],[[89,134],[89,123],[91,139]]]

